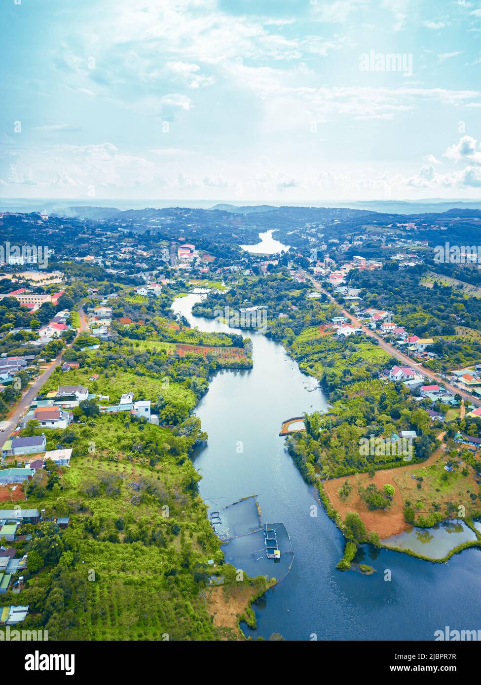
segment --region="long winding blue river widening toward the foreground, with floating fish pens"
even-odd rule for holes
[[[200,330],[239,332],[193,316],[193,303],[200,299],[202,295],[180,297],[173,308]],[[253,340],[253,369],[221,371],[213,378],[196,410],[209,441],[194,464],[202,475],[200,495],[210,508],[258,494],[263,521],[283,522],[292,540],[292,570],[255,603],[257,629],[243,625],[246,635],[433,640],[434,631],[445,626],[480,629],[478,549],[467,549],[447,564],[433,564],[366,545],[356,561],[371,564],[373,575],[336,570],[344,538],[278,435],[283,420],[325,408],[326,397],[312,390],[312,379],[281,345],[261,333],[243,334]],[[313,506],[317,516],[311,515]],[[272,575],[275,568],[273,562]]]

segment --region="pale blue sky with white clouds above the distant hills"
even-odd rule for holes
[[[0,197],[481,198],[481,0],[3,0]]]

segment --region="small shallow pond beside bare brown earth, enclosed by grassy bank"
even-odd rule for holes
[[[417,528],[393,535],[382,542],[388,547],[401,547],[432,559],[442,559],[451,549],[476,540],[476,534],[464,521],[443,521],[432,528]]]

